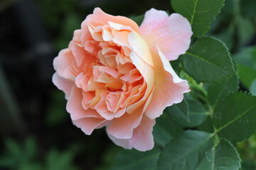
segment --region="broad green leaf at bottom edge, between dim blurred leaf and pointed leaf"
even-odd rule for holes
[[[188,130],[174,140],[171,140],[161,152],[160,170],[194,170],[213,147],[212,134]]]

